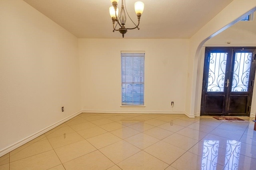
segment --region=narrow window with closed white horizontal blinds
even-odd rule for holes
[[[145,52],[121,52],[122,105],[144,105]]]

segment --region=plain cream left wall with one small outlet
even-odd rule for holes
[[[0,156],[80,111],[79,74],[74,35],[22,0],[0,1]]]

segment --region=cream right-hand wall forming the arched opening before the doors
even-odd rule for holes
[[[226,8],[217,14],[212,20],[204,25],[197,33],[195,33],[190,40],[189,56],[188,56],[188,73],[186,86],[186,113],[194,116],[198,98],[197,88],[197,72],[198,59],[200,56],[200,49],[202,45],[210,38],[218,35],[234,23],[240,21],[250,13],[256,10],[255,0],[233,0]]]

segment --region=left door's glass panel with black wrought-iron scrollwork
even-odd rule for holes
[[[228,53],[210,53],[207,92],[224,92]]]

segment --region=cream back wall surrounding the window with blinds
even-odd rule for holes
[[[120,107],[121,51],[145,51],[146,107]],[[79,57],[82,110],[184,113],[188,39],[79,39]]]

